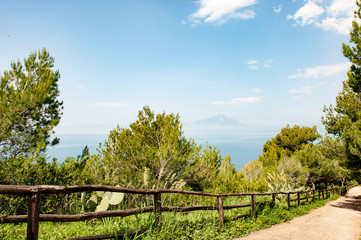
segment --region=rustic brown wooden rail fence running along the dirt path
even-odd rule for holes
[[[40,198],[46,194],[70,194],[76,192],[92,192],[92,191],[110,191],[110,192],[123,192],[142,195],[153,195],[153,206],[134,208],[126,210],[112,210],[112,211],[99,211],[99,212],[86,212],[77,215],[59,215],[59,214],[40,214]],[[37,240],[39,233],[39,222],[74,222],[84,221],[104,217],[125,217],[138,213],[154,212],[155,224],[160,225],[162,223],[162,212],[191,212],[198,210],[218,210],[219,220],[221,226],[224,225],[224,210],[251,207],[251,215],[255,216],[256,205],[265,203],[276,203],[276,196],[280,194],[287,195],[287,206],[291,206],[291,202],[296,201],[297,206],[301,204],[301,200],[314,201],[318,199],[328,198],[331,194],[338,193],[342,195],[346,191],[345,188],[331,188],[325,190],[308,190],[299,192],[270,192],[270,193],[230,193],[230,194],[213,194],[213,193],[201,193],[194,191],[184,190],[157,190],[157,189],[132,189],[122,187],[112,187],[104,185],[77,185],[77,186],[19,186],[19,185],[0,185],[0,194],[11,195],[28,195],[29,208],[28,215],[0,215],[0,223],[18,223],[27,222],[27,239]],[[209,196],[217,198],[216,206],[190,206],[190,207],[178,207],[178,206],[162,206],[162,193],[173,194],[187,194],[187,195],[199,195]],[[291,199],[291,195],[296,194],[297,197]],[[301,194],[305,194],[305,197],[301,197]],[[272,196],[272,201],[256,202],[256,196]],[[238,204],[238,205],[223,205],[223,199],[231,196],[250,196],[251,203]],[[311,200],[312,199],[312,200]],[[244,217],[244,215],[236,216],[233,219]],[[90,237],[80,237],[74,239],[107,239],[124,236],[125,234],[134,234],[135,231],[119,234],[98,235]]]

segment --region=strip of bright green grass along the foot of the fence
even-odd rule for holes
[[[259,197],[257,201],[266,200]],[[314,203],[302,201],[300,207],[292,202],[290,209],[284,201],[275,207],[262,205],[257,207],[257,216],[232,220],[241,214],[248,214],[250,208],[225,210],[225,226],[220,227],[217,211],[196,211],[191,213],[163,213],[162,227],[154,228],[154,215],[144,213],[125,218],[105,218],[96,221],[74,223],[41,222],[39,239],[68,239],[81,236],[110,234],[146,228],[144,233],[137,234],[133,239],[231,239],[241,237],[250,232],[268,228],[274,224],[305,215],[309,210],[321,207],[330,200],[337,199],[334,195],[326,200]],[[269,198],[267,198],[269,200]],[[225,205],[247,202],[248,198],[225,199]],[[26,239],[26,223],[0,224],[0,239]]]

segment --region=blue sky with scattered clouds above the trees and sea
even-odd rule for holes
[[[127,126],[143,106],[187,124],[320,125],[349,63],[354,0],[0,0],[0,74],[47,48],[57,133]]]

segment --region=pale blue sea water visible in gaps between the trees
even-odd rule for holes
[[[232,163],[238,170],[242,166],[252,160],[258,158],[262,153],[263,144],[274,135],[261,134],[249,136],[233,136],[233,137],[193,137],[197,144],[205,144],[216,146],[221,151],[222,156],[231,155]],[[67,157],[77,157],[82,153],[85,146],[88,146],[90,154],[97,153],[99,143],[103,143],[107,135],[103,134],[59,134],[60,143],[55,147],[49,148],[48,156],[57,158],[59,162],[63,162]]]

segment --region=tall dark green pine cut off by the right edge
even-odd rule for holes
[[[336,105],[324,108],[322,122],[328,133],[342,137],[348,154],[347,167],[353,176],[360,177],[361,165],[361,2],[356,1],[358,10],[350,32],[350,44],[342,44],[342,52],[352,65],[343,82],[342,91],[336,97]]]

